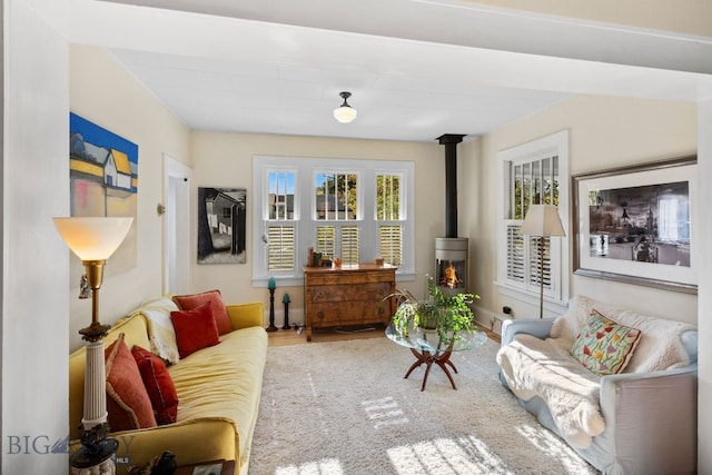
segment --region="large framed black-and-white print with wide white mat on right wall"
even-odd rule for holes
[[[696,162],[575,175],[574,274],[696,294]]]

